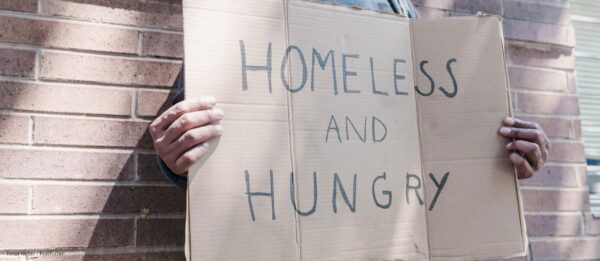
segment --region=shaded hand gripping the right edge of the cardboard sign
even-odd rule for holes
[[[528,179],[544,167],[550,151],[550,140],[544,130],[535,122],[516,118],[506,118],[500,134],[511,139],[506,149],[511,152],[509,158],[517,169],[519,179]]]

